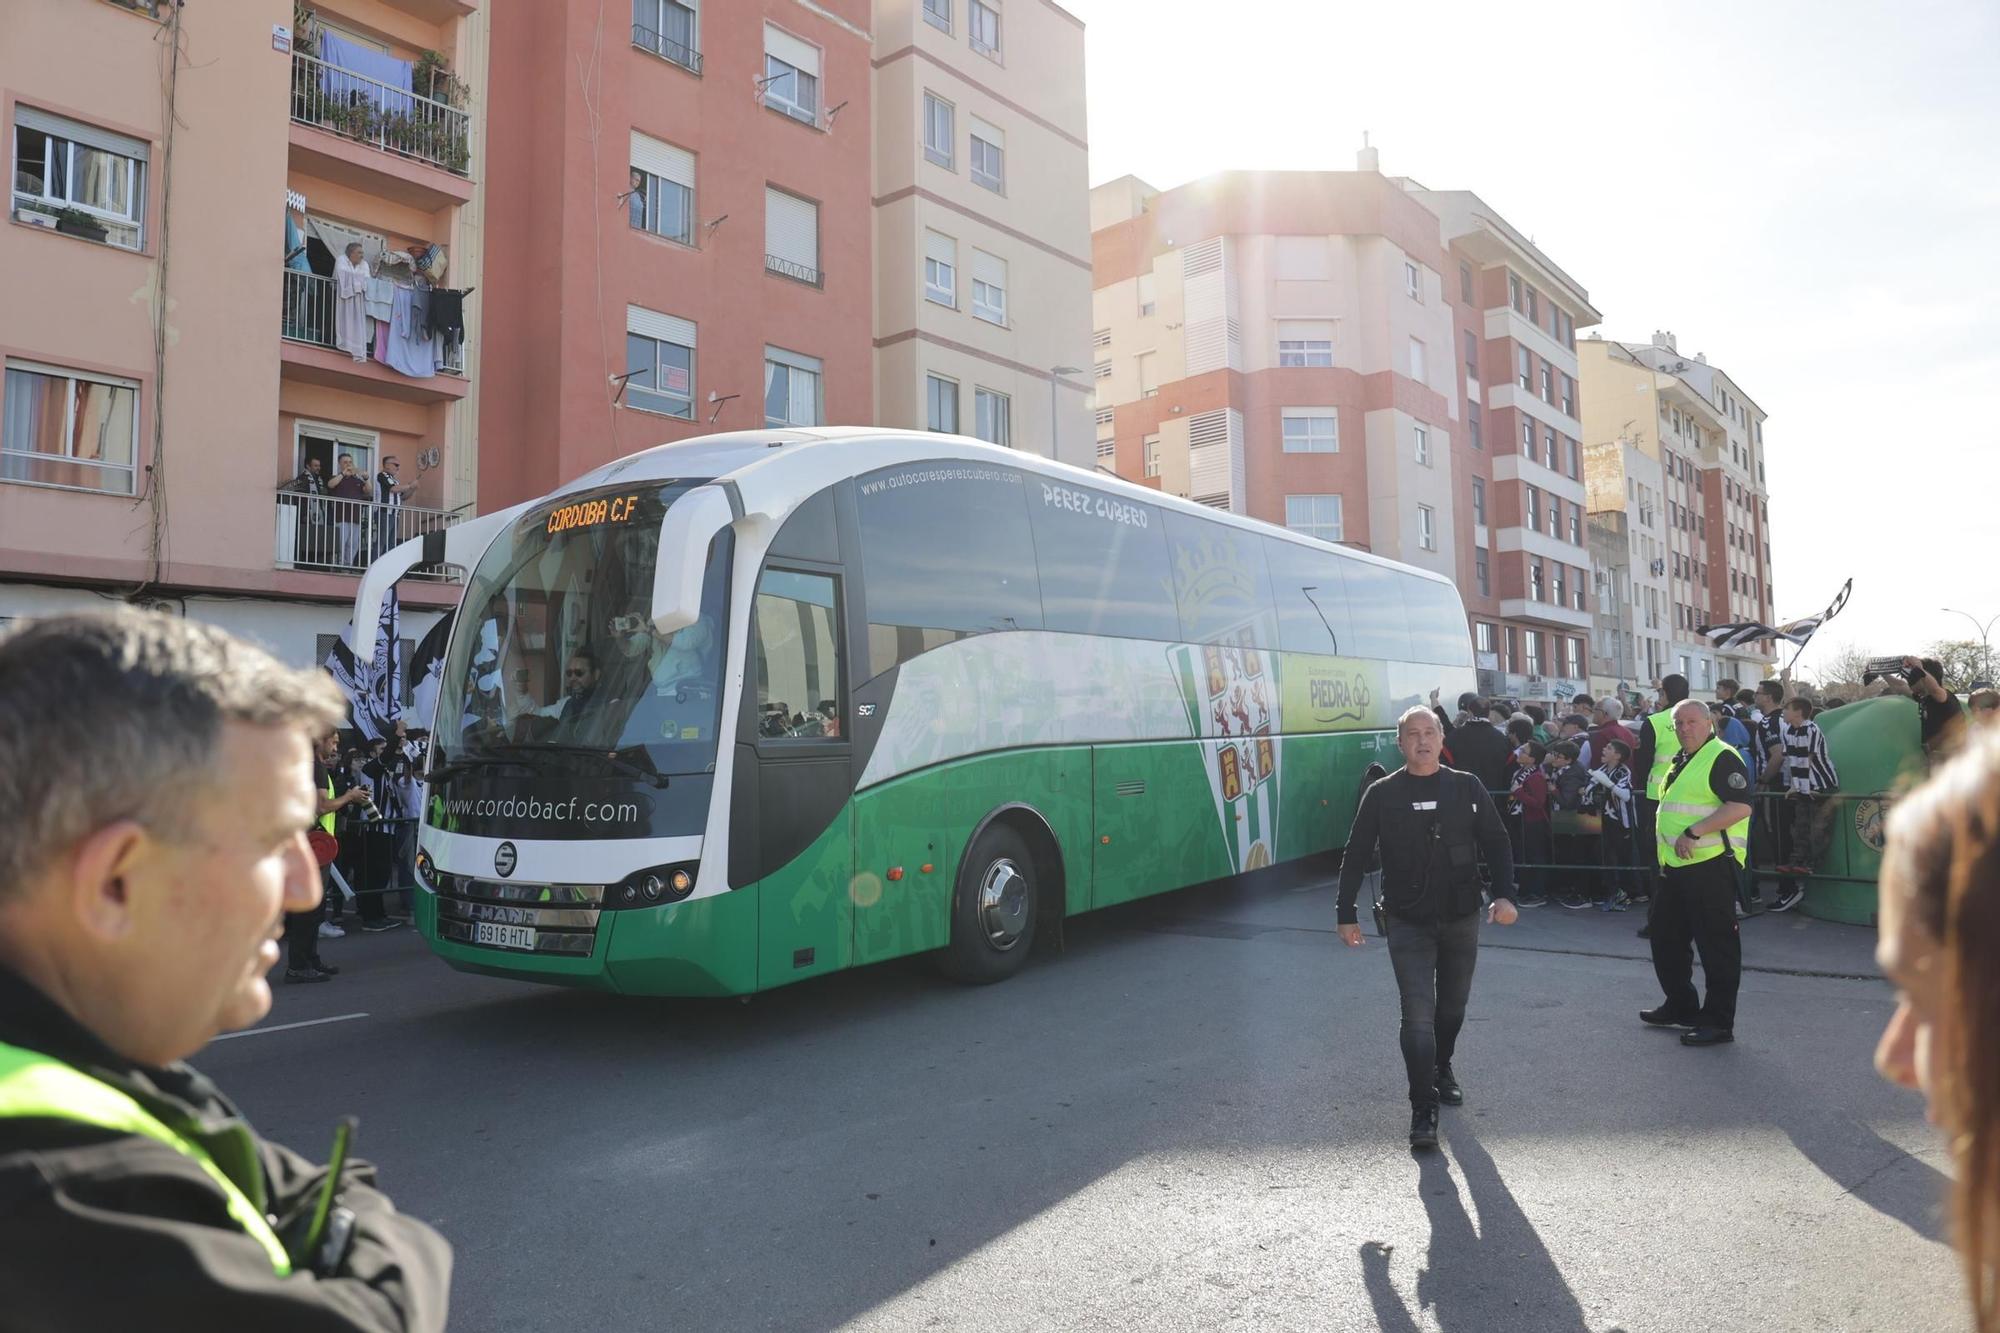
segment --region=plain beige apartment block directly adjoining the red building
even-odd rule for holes
[[[874,6],[876,416],[1090,466],[1084,26]]]

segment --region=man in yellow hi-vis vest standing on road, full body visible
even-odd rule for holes
[[[1736,1041],[1736,985],[1742,937],[1736,931],[1736,877],[1750,855],[1750,771],[1716,737],[1708,705],[1674,705],[1680,753],[1660,785],[1656,851],[1660,885],[1652,903],[1652,971],[1666,1001],[1640,1011],[1654,1027],[1686,1027],[1684,1047]],[[1702,951],[1706,1001],[1694,991]]]

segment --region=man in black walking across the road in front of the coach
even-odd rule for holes
[[[1486,785],[1438,763],[1444,731],[1430,709],[1396,719],[1404,767],[1362,793],[1340,859],[1340,939],[1362,945],[1354,897],[1376,851],[1388,959],[1402,993],[1402,1063],[1410,1077],[1410,1147],[1438,1147],[1438,1103],[1464,1103],[1452,1073],[1480,951],[1480,853],[1492,869],[1486,919],[1514,925],[1514,849]]]

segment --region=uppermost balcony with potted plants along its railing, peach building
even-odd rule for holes
[[[302,50],[292,52],[292,148],[316,176],[426,212],[472,198],[464,110]]]

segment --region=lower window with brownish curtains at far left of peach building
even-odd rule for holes
[[[6,362],[0,480],[138,494],[136,456],[136,382],[30,360]]]

